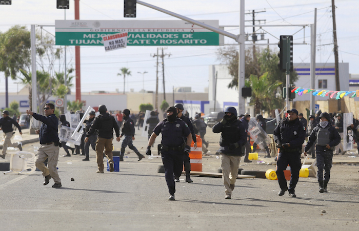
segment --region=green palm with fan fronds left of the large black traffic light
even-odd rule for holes
[[[256,75],[249,76],[249,82],[252,88],[251,104],[254,104],[255,114],[261,113],[262,108],[268,109],[268,104],[271,104],[270,102],[276,99],[276,89],[282,84],[282,82],[278,80],[274,83],[270,83],[267,78],[268,72],[265,72],[260,77],[257,77]]]

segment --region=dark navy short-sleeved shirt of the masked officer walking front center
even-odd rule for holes
[[[157,124],[153,132],[157,136],[162,133],[162,144],[170,147],[181,146],[184,143],[183,137],[188,137],[191,133],[187,123],[179,118],[172,123],[164,119]]]

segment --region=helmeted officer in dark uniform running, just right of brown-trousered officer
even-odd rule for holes
[[[136,147],[132,144],[132,140],[135,140],[134,138],[134,122],[133,120],[130,118],[130,110],[125,109],[123,112],[123,119],[125,120],[124,122],[124,127],[121,130],[121,136],[119,138],[122,138],[123,136],[125,136],[125,139],[122,141],[121,144],[121,153],[119,156],[119,160],[120,161],[124,161],[124,155],[125,155],[125,148],[128,145],[128,148],[130,148],[131,150],[133,150],[133,152],[135,152],[138,156],[138,161],[142,160],[142,158],[144,158],[145,156],[142,155],[141,153],[138,152],[138,150],[136,149]]]

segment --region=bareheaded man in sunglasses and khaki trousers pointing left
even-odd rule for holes
[[[35,133],[40,136],[40,146],[37,150],[35,157],[35,165],[37,169],[43,172],[45,177],[44,185],[47,185],[52,178],[54,184],[52,187],[61,187],[61,179],[57,173],[57,161],[59,151],[59,139],[57,135],[58,131],[58,120],[54,114],[55,106],[52,103],[45,104],[45,116],[36,114],[31,110],[26,110],[26,113],[32,115],[36,120],[43,122],[40,130],[36,130]],[[44,161],[48,159],[47,166]]]

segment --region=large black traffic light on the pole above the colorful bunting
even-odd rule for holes
[[[293,72],[293,36],[281,35],[278,41],[278,52],[279,62],[278,67],[283,72],[287,70],[287,62],[289,62],[289,71]]]

